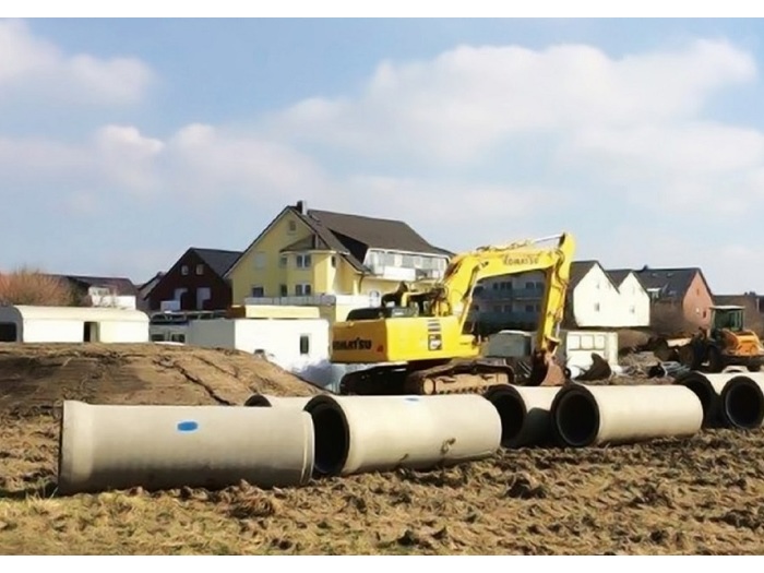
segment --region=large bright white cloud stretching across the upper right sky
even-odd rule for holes
[[[384,62],[359,97],[307,99],[272,124],[348,151],[470,162],[527,133],[690,118],[755,72],[750,55],[725,41],[621,59],[581,45],[461,46],[431,61]]]

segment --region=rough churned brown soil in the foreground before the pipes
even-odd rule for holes
[[[52,416],[0,422],[3,554],[761,554],[764,432],[520,449],[303,488],[60,498]]]

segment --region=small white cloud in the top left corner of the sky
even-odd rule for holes
[[[24,22],[0,21],[0,103],[45,97],[76,104],[133,104],[154,74],[134,58],[69,56],[32,34]]]

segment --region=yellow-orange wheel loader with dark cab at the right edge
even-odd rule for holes
[[[677,358],[692,370],[721,372],[729,366],[741,366],[757,372],[764,363],[764,347],[755,332],[745,329],[744,307],[711,307],[709,327],[684,339],[667,341],[676,348]]]

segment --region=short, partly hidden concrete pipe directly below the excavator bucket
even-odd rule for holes
[[[501,418],[501,445],[540,445],[550,438],[549,408],[560,386],[500,385],[484,396]]]

